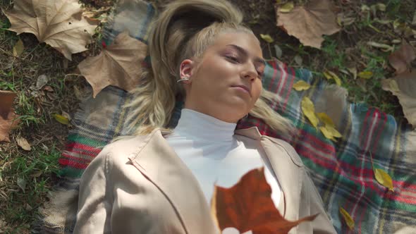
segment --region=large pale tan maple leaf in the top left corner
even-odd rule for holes
[[[98,23],[82,17],[78,0],[15,0],[6,12],[8,30],[30,32],[71,60],[71,54],[86,51]]]

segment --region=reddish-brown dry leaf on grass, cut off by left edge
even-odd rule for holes
[[[18,125],[18,115],[13,112],[14,92],[0,90],[0,142],[10,142],[8,133]]]

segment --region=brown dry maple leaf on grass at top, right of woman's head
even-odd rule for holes
[[[277,25],[288,35],[298,38],[305,46],[321,49],[322,35],[332,35],[341,27],[336,23],[336,15],[329,0],[311,0],[305,6],[297,6],[289,13],[276,8]]]

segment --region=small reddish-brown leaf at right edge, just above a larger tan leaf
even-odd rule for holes
[[[415,60],[416,54],[413,47],[403,39],[400,48],[389,56],[389,62],[396,69],[396,74],[405,73],[410,68],[410,63]]]

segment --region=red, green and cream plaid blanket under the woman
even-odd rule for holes
[[[106,43],[110,44],[126,29],[133,37],[147,42],[149,22],[155,14],[154,7],[143,1],[121,1],[104,30]],[[312,88],[293,90],[293,84],[299,80],[310,83]],[[263,135],[279,137],[295,147],[313,175],[338,233],[394,233],[416,226],[416,131],[410,125],[398,123],[366,104],[348,104],[343,88],[312,77],[309,70],[295,70],[278,61],[268,61],[263,87],[281,97],[271,107],[293,122],[298,135],[285,138],[252,116],[240,121],[237,128],[257,126]],[[340,140],[332,142],[310,125],[300,109],[305,96],[314,102],[317,112],[325,112],[334,120],[343,135]],[[72,233],[80,176],[105,144],[126,134],[129,109],[123,108],[123,104],[129,101],[128,93],[116,87],[107,87],[95,99],[90,95],[82,101],[73,121],[76,128],[68,135],[59,160],[60,183],[50,202],[41,209],[42,217],[35,230]],[[180,118],[182,105],[178,101],[171,127]],[[370,156],[375,168],[391,175],[394,192],[374,179]],[[343,222],[340,206],[355,221],[353,230]]]

